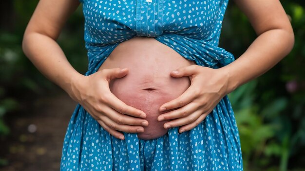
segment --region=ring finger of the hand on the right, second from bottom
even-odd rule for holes
[[[203,110],[197,110],[196,112],[192,113],[188,117],[185,118],[179,118],[176,120],[171,120],[169,122],[166,122],[164,124],[164,128],[172,128],[172,127],[178,127],[178,126],[183,126],[186,124],[190,124],[195,122],[201,115],[203,114]]]

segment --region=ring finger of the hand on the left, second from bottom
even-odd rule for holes
[[[106,116],[101,116],[101,120],[110,128],[118,131],[123,131],[127,133],[142,133],[144,128],[142,126],[131,126],[131,125],[119,125],[113,120],[109,119]]]

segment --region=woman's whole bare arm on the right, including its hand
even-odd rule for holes
[[[172,72],[176,78],[190,76],[191,86],[180,97],[160,107],[160,111],[163,107],[166,110],[180,107],[158,117],[158,120],[175,119],[165,123],[164,127],[181,126],[180,133],[194,128],[222,97],[267,72],[292,50],[293,30],[279,0],[234,1],[248,17],[258,37],[247,51],[225,67],[190,66],[179,68],[177,74]]]

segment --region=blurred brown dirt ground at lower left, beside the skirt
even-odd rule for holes
[[[63,138],[76,107],[67,94],[39,98],[33,110],[10,116],[11,133],[1,141],[0,171],[59,171]]]

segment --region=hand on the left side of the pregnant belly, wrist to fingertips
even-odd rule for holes
[[[144,132],[148,125],[146,114],[129,106],[110,91],[109,82],[128,74],[128,69],[102,69],[88,76],[80,76],[71,81],[70,97],[78,102],[111,135],[124,139],[118,131],[128,133]]]

